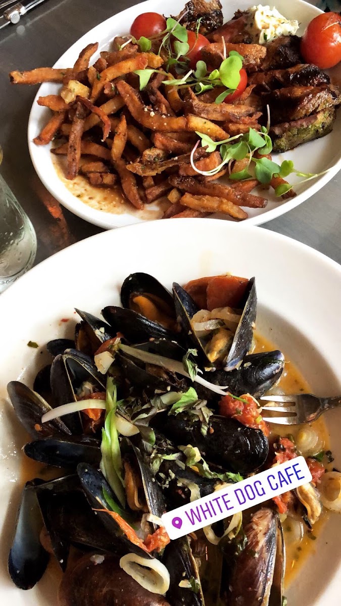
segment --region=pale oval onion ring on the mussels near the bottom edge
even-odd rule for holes
[[[135,553],[127,553],[120,559],[120,567],[141,587],[152,593],[163,595],[169,589],[169,572],[157,559],[142,558]]]

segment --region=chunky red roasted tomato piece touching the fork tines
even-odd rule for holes
[[[219,402],[219,414],[232,417],[236,421],[246,425],[246,427],[260,429],[265,436],[268,436],[268,425],[263,421],[257,400],[252,398],[248,393],[241,396],[241,399],[245,400],[245,402],[236,400],[233,396],[224,396],[221,398]]]

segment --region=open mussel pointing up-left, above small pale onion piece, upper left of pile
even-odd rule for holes
[[[104,322],[103,319],[96,318],[92,313],[87,313],[87,311],[77,308],[76,312],[82,319],[75,328],[76,349],[83,351],[89,356],[93,356],[101,343],[112,339],[115,334],[109,324]]]

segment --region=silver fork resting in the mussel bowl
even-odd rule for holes
[[[311,393],[299,393],[296,396],[262,396],[260,400],[262,404],[265,401],[270,404],[263,404],[262,415],[268,410],[277,413],[289,413],[283,416],[263,416],[264,421],[279,425],[311,423],[312,421],[316,421],[326,410],[341,406],[341,396],[335,398],[317,398],[317,396],[313,396]],[[281,406],[281,404],[286,404],[286,406]]]

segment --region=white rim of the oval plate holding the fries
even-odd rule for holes
[[[319,8],[317,8],[316,6],[314,6],[312,4],[309,4],[309,2],[305,2],[305,0],[293,0],[293,1],[297,2],[297,4],[306,5],[306,7],[309,7],[310,10],[314,10],[314,12],[316,12],[316,15],[323,13],[322,10],[320,10]],[[73,49],[73,47],[75,47],[75,45],[78,45],[84,38],[86,38],[86,36],[88,36],[90,33],[92,33],[93,30],[95,30],[96,28],[98,28],[98,27],[105,28],[105,24],[107,24],[109,21],[111,21],[114,18],[117,18],[119,15],[120,16],[124,15],[124,13],[129,12],[132,8],[135,8],[136,6],[138,6],[139,9],[141,7],[141,9],[142,9],[141,12],[143,12],[143,7],[147,7],[148,5],[155,5],[155,4],[157,4],[156,0],[145,0],[144,2],[141,2],[138,5],[133,5],[132,7],[127,7],[124,10],[120,11],[119,13],[116,13],[115,15],[112,15],[109,18],[105,19],[100,24],[95,25],[95,27],[91,28],[88,32],[84,33],[83,36],[78,38],[78,40],[73,42],[73,44],[69,48],[67,48],[67,50],[64,53],[62,53],[62,55],[58,58],[58,60],[53,65],[53,67],[55,65],[57,65],[59,61],[62,61],[64,56],[67,53],[69,53],[70,51],[72,51],[72,49]],[[33,100],[32,107],[30,109],[29,121],[27,124],[27,140],[28,140],[29,153],[30,153],[30,158],[31,158],[33,167],[35,168],[36,174],[38,175],[38,177],[41,180],[44,187],[47,188],[49,193],[58,202],[60,202],[60,204],[62,204],[62,206],[67,208],[74,215],[78,216],[81,219],[84,219],[84,221],[87,221],[90,224],[97,225],[98,227],[101,227],[104,229],[124,227],[126,225],[150,222],[149,219],[141,219],[141,218],[135,217],[133,215],[130,215],[130,213],[124,213],[124,215],[118,215],[116,213],[107,213],[106,211],[97,210],[95,208],[92,208],[89,205],[87,205],[85,202],[79,201],[79,199],[77,199],[76,196],[74,196],[70,192],[70,190],[66,187],[66,185],[61,181],[61,179],[59,179],[59,184],[61,186],[60,189],[58,187],[58,190],[56,190],[55,188],[53,188],[52,185],[50,185],[50,182],[49,182],[50,173],[45,175],[46,171],[44,170],[44,168],[40,168],[38,150],[36,150],[36,145],[33,143],[33,138],[32,138],[33,133],[30,133],[30,131],[32,130],[32,127],[34,125],[34,122],[35,122],[35,112],[37,111],[36,101],[37,101],[38,97],[41,95],[42,86],[44,86],[44,84],[42,84],[39,87],[38,92],[36,93],[36,96]],[[41,109],[41,111],[44,110],[44,108],[40,108],[40,109]],[[329,167],[328,173],[317,178],[315,182],[312,182],[312,185],[310,187],[308,187],[307,190],[303,191],[302,193],[298,193],[297,196],[295,196],[295,198],[291,198],[291,199],[285,201],[284,203],[278,205],[277,207],[271,208],[270,210],[267,210],[264,213],[261,213],[260,215],[257,215],[254,217],[249,217],[248,219],[245,219],[244,221],[240,221],[238,223],[240,225],[262,225],[263,223],[272,221],[272,219],[276,219],[277,217],[284,215],[288,211],[292,210],[293,208],[295,208],[295,207],[299,206],[300,204],[302,204],[303,202],[305,202],[307,199],[311,198],[312,195],[317,193],[317,191],[319,191],[322,187],[324,187],[324,185],[326,183],[328,183],[331,179],[333,179],[333,177],[336,175],[336,173],[340,169],[341,169],[341,154],[340,154],[339,159],[337,159],[337,161],[331,167]],[[121,223],[120,217],[123,217],[123,216],[125,217],[124,223]],[[224,219],[224,218],[218,219],[218,220],[226,221],[226,222],[235,222],[233,220],[231,221],[229,219]]]

